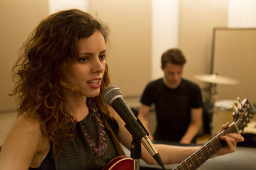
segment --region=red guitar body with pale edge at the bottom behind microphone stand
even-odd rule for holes
[[[103,170],[132,170],[133,160],[126,156],[119,156],[112,159]]]

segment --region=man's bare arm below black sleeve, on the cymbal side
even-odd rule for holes
[[[191,143],[202,125],[202,108],[191,108],[191,122],[180,143]]]

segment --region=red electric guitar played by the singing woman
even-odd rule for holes
[[[239,101],[239,104],[236,106],[236,111],[233,113],[234,122],[172,170],[193,170],[200,167],[207,159],[225,145],[225,141],[221,140],[220,136],[233,132],[241,133],[254,115],[255,111],[253,111],[252,104],[250,104],[247,99],[244,99],[243,102]],[[110,169],[131,170],[133,169],[133,160],[126,156],[116,157],[111,160],[103,170]]]

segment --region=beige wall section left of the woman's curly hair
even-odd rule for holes
[[[15,109],[13,98],[8,96],[13,83],[10,71],[17,60],[20,46],[42,17],[48,14],[46,0],[0,1],[0,113]]]

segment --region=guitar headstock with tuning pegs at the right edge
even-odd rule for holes
[[[250,122],[250,120],[255,116],[255,110],[253,110],[252,104],[249,103],[248,99],[243,99],[241,102],[237,98],[237,103],[235,111],[233,112],[234,122],[236,122],[237,128],[239,131],[243,131],[244,127]]]

